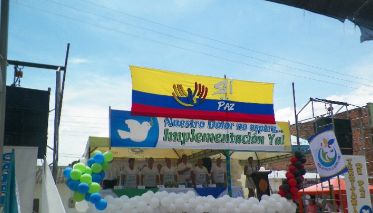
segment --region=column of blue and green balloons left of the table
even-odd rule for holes
[[[67,187],[74,192],[72,198],[75,202],[86,200],[94,204],[97,210],[106,209],[107,202],[99,194],[100,182],[104,179],[105,171],[109,169],[109,162],[113,158],[112,152],[102,154],[97,150],[93,153],[93,158],[87,161],[87,166],[77,163],[63,171]]]

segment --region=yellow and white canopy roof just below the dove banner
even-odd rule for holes
[[[106,137],[90,136],[87,141],[84,157],[88,158],[89,153],[95,150],[106,152],[109,150],[110,139]],[[164,159],[165,157],[171,159],[181,158],[182,155],[187,155],[190,160],[210,157],[223,157],[223,150],[209,150],[209,149],[161,149],[161,148],[116,148],[111,147],[110,151],[114,158],[148,158]],[[248,157],[253,157],[254,161],[262,163],[271,163],[275,161],[284,160],[291,157],[292,153],[271,153],[271,152],[231,152],[231,158],[237,158],[246,161]]]

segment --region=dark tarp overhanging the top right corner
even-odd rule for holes
[[[360,27],[360,41],[373,40],[373,1],[372,0],[268,0],[286,4],[311,12],[346,19]]]

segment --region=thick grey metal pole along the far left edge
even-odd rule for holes
[[[4,146],[5,127],[5,93],[6,93],[6,59],[8,47],[9,0],[1,0],[0,14],[0,165],[2,167],[2,150]],[[1,169],[2,174],[2,169]]]

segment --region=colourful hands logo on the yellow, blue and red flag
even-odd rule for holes
[[[192,107],[197,106],[201,104],[206,96],[208,89],[207,87],[197,84],[197,82],[194,82],[194,92],[192,92],[191,88],[188,88],[186,91],[183,88],[183,85],[177,84],[173,85],[174,92],[172,92],[172,96],[174,96],[175,100],[186,107]],[[186,97],[186,100],[188,103],[182,102],[179,98]]]

